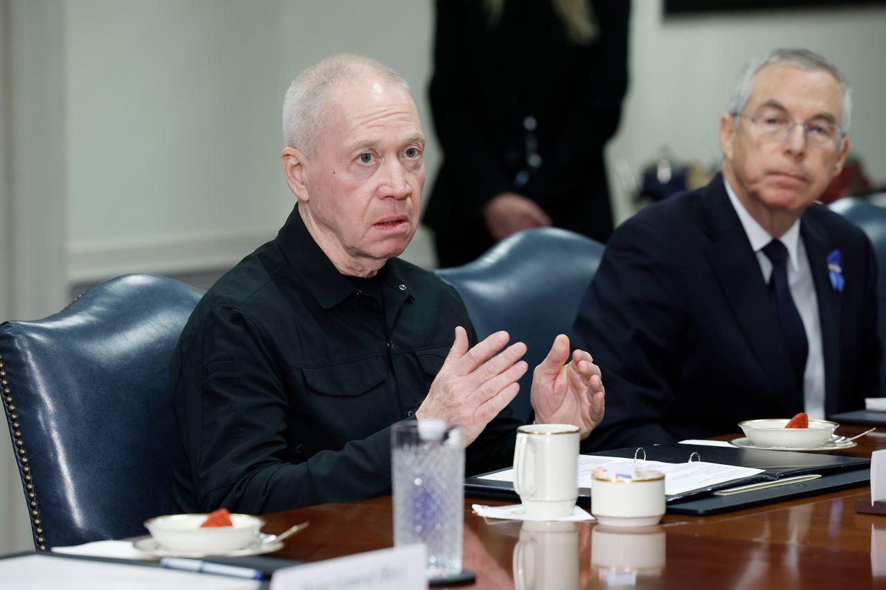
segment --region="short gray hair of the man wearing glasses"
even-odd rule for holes
[[[764,67],[782,65],[797,66],[807,72],[828,72],[834,76],[837,82],[840,82],[840,88],[843,89],[843,119],[840,121],[840,127],[843,134],[849,132],[849,123],[852,114],[852,90],[846,84],[846,78],[836,69],[834,64],[827,59],[822,58],[818,53],[810,50],[802,49],[777,49],[769,52],[762,58],[751,59],[742,68],[741,74],[738,74],[738,82],[729,97],[729,113],[740,114],[744,111],[744,107],[748,105],[750,98],[750,89],[754,82],[754,76]]]

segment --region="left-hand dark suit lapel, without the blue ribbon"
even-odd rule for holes
[[[750,350],[779,393],[783,415],[803,411],[803,392],[793,376],[787,347],[766,291],[756,254],[717,175],[702,199],[703,231],[711,238],[705,255]]]

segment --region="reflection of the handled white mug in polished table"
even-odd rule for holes
[[[516,590],[579,587],[579,528],[575,523],[527,520],[514,547]]]

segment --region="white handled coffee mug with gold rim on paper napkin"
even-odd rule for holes
[[[526,516],[571,515],[579,498],[579,427],[526,424],[517,428],[514,489]]]

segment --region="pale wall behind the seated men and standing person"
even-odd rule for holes
[[[25,6],[15,12],[21,18],[12,14]],[[39,16],[47,7],[55,17]],[[439,153],[426,100],[431,7],[431,0],[0,0],[0,32],[8,37],[14,21],[32,50],[46,43],[52,18],[62,19],[49,53],[34,58],[51,63],[14,70],[15,93],[0,96],[0,162],[17,166],[10,151],[44,149],[22,154],[19,184],[0,182],[0,213],[11,203],[24,207],[17,235],[32,244],[19,252],[28,279],[16,286],[19,304],[0,300],[0,312],[57,311],[64,276],[80,282],[228,266],[273,236],[293,202],[278,164],[284,90],[332,52],[365,53],[406,75],[431,140],[432,179]],[[631,89],[610,163],[625,159],[639,170],[663,145],[681,159],[718,159],[717,120],[738,69],[783,45],[819,50],[843,69],[856,91],[853,151],[886,182],[886,9],[872,7],[664,20],[660,0],[634,0]],[[7,47],[4,65],[14,61]],[[56,74],[61,88],[47,101]],[[2,102],[10,95],[16,113]],[[14,133],[11,120],[19,121]],[[631,206],[618,198],[623,219]],[[15,258],[10,238],[0,242],[6,271]],[[66,250],[61,268],[51,252],[58,241]],[[416,239],[422,243],[426,235]],[[424,251],[407,253],[427,260]],[[27,535],[11,532],[24,509],[14,493],[18,476],[2,462],[0,469],[0,490],[13,490],[0,498],[0,551],[27,548]]]

